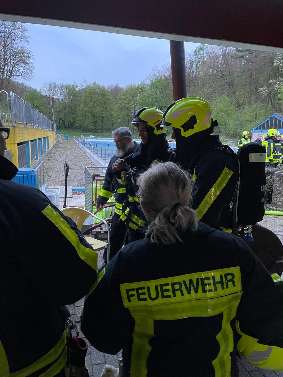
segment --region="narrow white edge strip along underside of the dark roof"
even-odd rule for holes
[[[222,40],[222,39],[217,40],[217,39],[209,39],[209,38],[189,37],[186,35],[177,35],[177,34],[162,34],[162,33],[157,33],[157,32],[150,32],[150,31],[113,28],[110,26],[92,25],[92,24],[79,23],[79,22],[51,20],[47,18],[27,17],[27,16],[9,15],[9,14],[2,14],[2,13],[0,13],[0,20],[25,22],[25,23],[32,23],[32,24],[38,24],[38,25],[61,26],[64,28],[93,30],[93,31],[101,31],[101,32],[106,32],[106,33],[114,33],[114,34],[126,34],[126,35],[134,35],[137,37],[158,38],[158,39],[165,39],[165,40],[193,42],[193,43],[205,43],[205,44],[213,44],[216,46],[237,47],[237,48],[245,48],[249,50],[267,51],[267,52],[275,52],[278,54],[283,54],[283,47],[279,48],[279,47],[272,47],[272,46],[262,46],[259,44],[249,44],[249,43],[243,43],[243,42],[227,41],[227,40]]]

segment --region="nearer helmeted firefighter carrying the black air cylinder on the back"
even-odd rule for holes
[[[221,144],[218,135],[211,135],[217,126],[211,115],[207,101],[182,98],[165,110],[162,125],[173,127],[177,148],[174,162],[193,175],[192,208],[198,220],[231,232],[230,203],[238,182],[237,156]]]

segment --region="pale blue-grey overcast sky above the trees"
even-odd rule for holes
[[[27,24],[34,53],[35,74],[26,84],[40,89],[44,83],[139,83],[155,64],[170,61],[169,41],[58,26]],[[186,53],[196,43],[185,42]]]

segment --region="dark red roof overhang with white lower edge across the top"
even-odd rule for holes
[[[283,53],[281,0],[22,0],[0,19]],[[270,26],[272,25],[272,27]]]

